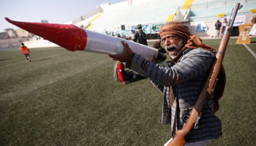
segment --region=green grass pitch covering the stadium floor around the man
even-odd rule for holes
[[[256,41],[256,38],[252,38]],[[218,48],[220,39],[203,43]],[[150,46],[154,42],[149,42]],[[248,45],[255,51],[256,44]],[[108,55],[61,47],[0,51],[0,145],[164,145],[162,94],[148,79],[113,80]],[[213,145],[256,145],[256,59],[230,39]]]

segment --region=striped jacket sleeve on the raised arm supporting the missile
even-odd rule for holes
[[[154,64],[135,54],[130,67],[157,84],[173,86],[208,72],[214,57],[214,53],[210,51],[195,49],[184,55],[178,64],[169,68]]]

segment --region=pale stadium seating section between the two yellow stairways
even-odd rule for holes
[[[90,30],[102,32],[116,30],[123,24],[129,27],[137,26],[138,23],[165,23],[167,18],[175,14],[178,6],[182,6],[184,2],[185,0],[150,1],[147,4],[135,4],[104,12],[97,20],[94,20],[94,26]]]

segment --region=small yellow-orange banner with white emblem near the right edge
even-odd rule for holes
[[[239,25],[239,37],[236,44],[251,44],[251,39],[249,38],[249,32],[251,31],[253,23],[240,24]]]

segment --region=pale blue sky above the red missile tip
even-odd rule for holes
[[[17,29],[4,18],[24,22],[67,23],[85,15],[97,5],[127,0],[0,0],[0,32],[5,28]]]

